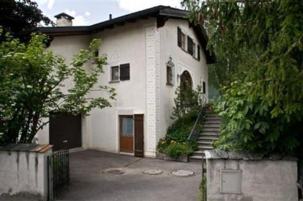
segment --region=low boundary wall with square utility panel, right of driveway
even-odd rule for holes
[[[207,200],[296,201],[297,161],[247,152],[205,151]]]

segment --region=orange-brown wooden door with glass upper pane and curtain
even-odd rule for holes
[[[119,116],[120,152],[134,153],[134,118]]]

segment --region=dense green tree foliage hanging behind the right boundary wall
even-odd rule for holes
[[[190,19],[211,27],[223,94],[222,149],[267,154],[301,149],[303,2],[185,0]],[[226,75],[224,75],[226,71]]]

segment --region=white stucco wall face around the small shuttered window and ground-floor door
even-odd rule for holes
[[[91,133],[88,147],[119,152],[119,115],[144,114],[144,150],[147,151],[146,116],[146,28],[153,25],[155,19],[139,20],[115,26],[98,32],[92,38],[101,38],[103,44],[99,53],[107,54],[108,66],[100,76],[98,83],[116,89],[116,100],[111,108],[93,109],[91,113]],[[110,81],[110,66],[130,63],[130,80]],[[95,91],[93,97],[103,95]]]

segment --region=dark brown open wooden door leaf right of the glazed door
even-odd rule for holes
[[[134,115],[135,119],[135,156],[144,156],[144,116]]]

